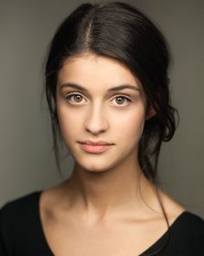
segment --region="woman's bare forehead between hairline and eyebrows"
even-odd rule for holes
[[[104,89],[110,86],[130,84],[142,89],[137,77],[123,63],[110,57],[87,53],[70,57],[64,62],[58,74],[58,84],[68,82],[83,86],[97,84]]]

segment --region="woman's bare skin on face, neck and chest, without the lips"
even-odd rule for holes
[[[64,62],[56,102],[73,155],[68,181],[41,194],[41,224],[57,256],[136,256],[167,230],[155,188],[138,164],[146,108],[141,82],[122,63],[84,53]],[[85,141],[105,141],[90,153]],[[185,209],[161,189],[169,224]]]

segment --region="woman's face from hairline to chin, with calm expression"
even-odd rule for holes
[[[137,164],[145,97],[123,64],[92,54],[69,58],[58,75],[56,102],[61,135],[76,164],[94,172]]]

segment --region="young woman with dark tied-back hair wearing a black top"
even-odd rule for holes
[[[0,255],[204,255],[204,221],[159,186],[162,141],[175,132],[169,53],[126,3],[85,3],[52,40],[46,95],[59,165],[71,177],[0,211]]]

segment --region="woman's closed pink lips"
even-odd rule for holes
[[[88,153],[102,153],[111,148],[112,144],[105,141],[81,141],[80,147]]]

